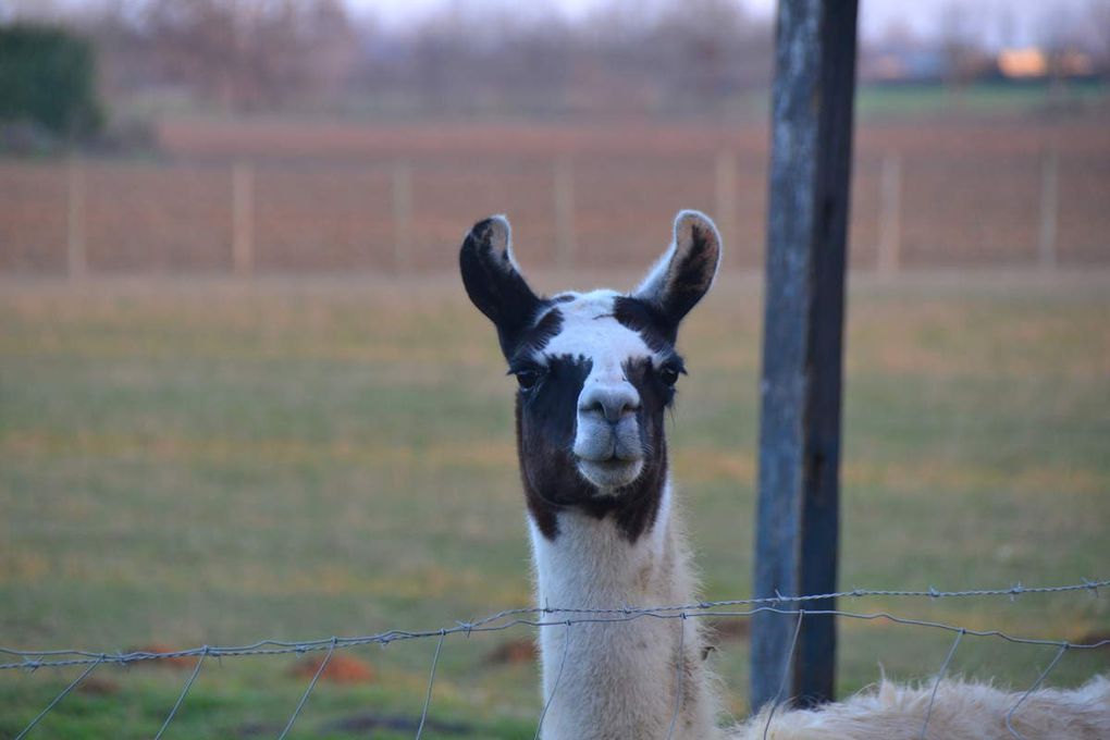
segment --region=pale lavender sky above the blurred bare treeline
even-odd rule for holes
[[[598,0],[547,0],[568,17],[579,17]],[[755,14],[769,17],[775,0],[737,0]],[[512,0],[346,0],[353,8],[365,8],[390,26],[404,26],[412,18],[434,13],[437,9],[458,4],[513,7]],[[997,44],[1002,36],[1017,43],[1031,43],[1038,29],[1068,14],[1080,14],[1097,2],[1110,0],[860,0],[860,31],[875,37],[892,24],[908,26],[922,36],[934,36],[942,18],[952,8],[963,13],[973,27],[987,34],[986,41]]]

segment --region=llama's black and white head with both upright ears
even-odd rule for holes
[[[678,324],[709,290],[720,237],[696,211],[639,287],[537,296],[513,257],[504,216],[474,225],[460,253],[463,284],[497,330],[516,376],[517,452],[538,530],[557,514],[615,515],[630,540],[650,527],[667,476],[664,415],[685,374]]]

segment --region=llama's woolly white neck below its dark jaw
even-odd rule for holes
[[[689,554],[669,483],[655,523],[633,541],[614,517],[576,510],[557,516],[554,538],[535,523],[531,527],[539,607],[635,608],[694,600]],[[545,621],[575,617],[544,615]],[[544,700],[555,691],[544,740],[664,740],[676,700],[674,738],[715,737],[704,645],[697,619],[642,617],[541,629]]]

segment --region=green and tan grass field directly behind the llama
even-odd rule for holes
[[[1110,574],[1108,284],[1106,273],[854,283],[845,587]],[[750,589],[759,314],[758,283],[726,277],[682,337],[690,377],[670,446],[708,598]],[[3,283],[0,645],[312,639],[527,605],[503,373],[453,278]],[[1110,598],[1086,594],[844,607],[1031,637],[1110,630]],[[928,676],[951,643],[878,622],[846,621],[840,635],[842,692],[880,666]],[[531,738],[535,667],[490,658],[528,636],[450,638],[425,737]],[[321,682],[293,736],[412,737],[434,648],[349,651],[376,680]],[[966,638],[952,670],[1026,687],[1052,653]],[[746,643],[717,656],[743,713]],[[275,737],[304,660],[205,663],[165,737]],[[1071,652],[1050,680],[1108,662]],[[188,670],[100,668],[31,737],[150,737]],[[0,675],[0,737],[74,676]]]

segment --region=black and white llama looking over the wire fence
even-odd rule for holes
[[[685,374],[675,349],[678,325],[713,284],[719,255],[713,222],[683,211],[669,249],[633,293],[541,297],[521,275],[506,219],[486,219],[467,234],[460,252],[463,284],[493,322],[519,386],[517,455],[539,607],[696,601],[664,416]],[[559,614],[547,618],[558,621]],[[549,700],[544,739],[761,737],[765,716],[718,729],[707,646],[697,619],[541,630],[543,696]],[[982,730],[985,722],[1006,732],[1005,714],[1017,697],[987,687],[973,687],[972,696],[966,688],[947,681],[941,687],[929,738],[996,737]],[[1021,731],[1027,738],[1110,738],[1110,682],[1086,690],[1090,696],[1046,691],[1030,698],[1019,719],[1036,713],[1042,726],[1023,721]],[[783,711],[767,737],[917,738],[930,691],[885,685],[874,696],[820,711]],[[1093,708],[1091,716],[1071,712],[1070,729],[1049,731],[1059,727],[1050,722],[1053,712],[1069,701]],[[1041,709],[1032,711],[1035,706]],[[970,731],[960,729],[965,710],[978,720]],[[1077,729],[1087,726],[1087,734]]]

